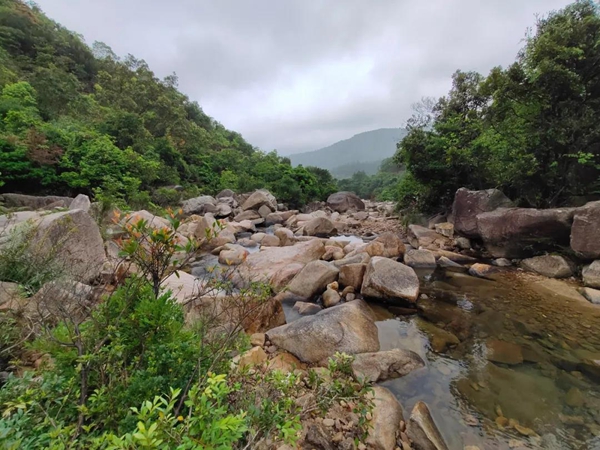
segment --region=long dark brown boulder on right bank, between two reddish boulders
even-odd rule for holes
[[[495,258],[523,258],[568,245],[574,208],[497,209],[477,216],[486,248]]]

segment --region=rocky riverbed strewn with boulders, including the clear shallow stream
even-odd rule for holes
[[[126,221],[166,225],[133,212],[106,226],[102,250],[89,200],[4,201],[26,210],[0,217],[4,229],[33,220],[60,240],[61,220],[77,225],[64,258],[86,268],[73,274],[83,283],[115,281],[114,240]],[[589,223],[600,207],[511,206],[497,191],[460,190],[449,219],[404,230],[392,204],[350,193],[304,211],[262,190],[202,196],[183,204],[179,229],[182,240],[201,241],[201,252],[165,289],[193,320],[223,308],[231,289],[268,283],[273,295],[244,322],[255,347],[242,363],[276,360],[293,370],[324,365],[336,352],[355,355],[357,379],[380,386],[360,448],[595,448],[600,268],[589,262],[600,255],[581,233],[597,232]],[[575,256],[545,253],[569,242]],[[219,277],[234,287],[207,289]],[[15,307],[11,288],[3,284],[4,308]],[[342,446],[347,430],[329,423],[336,419],[351,421],[307,422],[306,448],[351,448]]]

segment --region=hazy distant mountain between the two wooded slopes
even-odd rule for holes
[[[380,128],[352,136],[328,147],[290,155],[292,165],[316,166],[336,178],[348,178],[360,170],[374,174],[381,162],[396,153],[396,144],[406,136],[404,128]]]

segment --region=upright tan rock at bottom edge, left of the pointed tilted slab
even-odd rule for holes
[[[402,406],[388,389],[374,386],[373,411],[365,443],[373,450],[394,450],[396,433],[400,431]]]

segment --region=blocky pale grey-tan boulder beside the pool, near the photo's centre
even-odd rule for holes
[[[419,279],[412,268],[376,256],[367,265],[361,294],[366,297],[414,302],[419,297]]]

